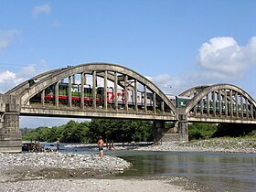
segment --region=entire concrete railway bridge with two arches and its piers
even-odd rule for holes
[[[21,151],[19,115],[154,121],[155,141],[165,137],[165,122],[171,121],[176,122],[177,140],[186,142],[189,122],[256,123],[255,104],[234,85],[195,87],[170,99],[153,82],[123,66],[69,66],[0,94],[0,152]]]

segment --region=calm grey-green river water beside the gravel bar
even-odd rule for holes
[[[98,153],[82,150],[77,153]],[[214,191],[256,191],[256,154],[104,151],[133,164],[123,176],[186,176]]]

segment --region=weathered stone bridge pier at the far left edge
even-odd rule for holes
[[[21,153],[19,105],[16,98],[0,95],[0,153]]]

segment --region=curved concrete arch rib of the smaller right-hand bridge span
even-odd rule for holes
[[[199,87],[200,86],[198,86],[197,88],[199,88]],[[251,98],[251,96],[246,91],[243,91],[239,87],[237,87],[235,85],[231,85],[231,84],[215,84],[212,86],[204,87],[204,89],[202,89],[202,91],[198,92],[197,95],[195,95],[192,98],[192,100],[188,103],[188,105],[186,106],[185,112],[188,114],[188,112],[190,112],[197,105],[197,102],[201,101],[201,99],[203,97],[207,96],[209,93],[211,93],[213,91],[219,91],[219,90],[229,90],[229,91],[234,91],[234,92],[240,93],[241,96],[248,99],[248,101],[250,101],[253,104],[254,110],[256,109],[256,102]],[[193,91],[195,91],[195,88],[192,88],[189,91],[193,92]],[[189,91],[187,91],[187,93]]]

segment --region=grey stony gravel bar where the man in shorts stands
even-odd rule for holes
[[[131,166],[122,158],[64,153],[0,154],[0,182],[102,176]]]

